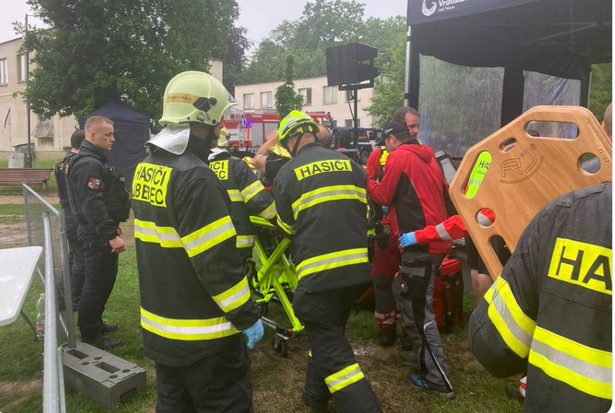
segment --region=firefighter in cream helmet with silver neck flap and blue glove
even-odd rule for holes
[[[231,201],[206,165],[235,104],[213,76],[178,74],[164,93],[165,128],[135,170],[141,327],[161,412],[253,411],[248,347],[263,325],[237,252]]]

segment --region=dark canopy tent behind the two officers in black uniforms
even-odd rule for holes
[[[119,98],[79,119],[83,129],[92,116],[106,116],[114,123],[115,143],[109,152],[109,163],[126,179],[126,188],[132,186],[132,175],[137,164],[145,156],[145,142],[150,138],[149,117],[133,110]]]

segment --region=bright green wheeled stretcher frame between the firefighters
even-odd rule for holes
[[[285,254],[291,240],[287,237],[280,238],[280,231],[266,219],[251,216],[250,221],[258,230],[254,250],[262,266],[257,272],[254,262],[249,261],[250,268],[246,270],[246,273],[256,297],[256,305],[261,311],[263,324],[275,331],[273,348],[282,356],[286,356],[288,354],[287,341],[304,329],[295,316],[289,298],[297,289],[298,283],[295,265]],[[289,328],[280,327],[276,322],[265,317],[271,301],[277,301],[282,305],[290,322]]]

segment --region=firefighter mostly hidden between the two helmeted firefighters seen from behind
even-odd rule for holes
[[[250,215],[266,220],[275,218],[273,196],[265,190],[262,182],[243,160],[234,157],[226,149],[226,128],[222,128],[218,140],[209,155],[209,167],[218,176],[231,199],[231,217],[237,231],[237,250],[244,260],[252,257],[256,229],[250,223]]]

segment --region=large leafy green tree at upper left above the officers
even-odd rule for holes
[[[36,68],[25,92],[42,117],[83,116],[120,96],[151,118],[184,70],[228,50],[235,0],[28,0],[49,26],[24,47]],[[236,33],[235,33],[236,34]]]

